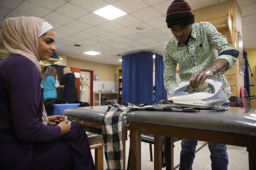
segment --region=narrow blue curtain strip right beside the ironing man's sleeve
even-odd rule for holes
[[[164,62],[163,56],[155,54],[155,101],[156,104],[167,99],[167,91],[163,81]]]

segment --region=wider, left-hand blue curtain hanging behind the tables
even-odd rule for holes
[[[153,104],[152,53],[127,54],[122,60],[122,102]]]

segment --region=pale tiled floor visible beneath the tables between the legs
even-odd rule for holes
[[[174,165],[178,165],[180,161],[180,142],[175,142],[174,148]],[[197,148],[204,145],[205,142],[199,141]],[[130,141],[126,141],[126,166],[127,166],[127,159],[129,153],[129,145]],[[141,143],[142,148],[142,163],[141,169],[142,170],[152,170],[154,169],[153,162],[150,162],[150,151],[149,151],[149,144],[148,143]],[[154,155],[154,146],[152,146],[153,155]],[[229,156],[229,165],[228,169],[230,170],[247,170],[249,169],[249,162],[248,162],[248,152],[246,151],[246,147],[238,147],[238,146],[231,146],[228,145],[228,156]],[[92,150],[92,155],[94,158],[94,150]],[[210,167],[210,151],[208,149],[208,145],[205,145],[200,151],[197,152],[196,158],[193,163],[193,169],[195,170],[211,170]],[[107,165],[105,162],[104,157],[104,169],[107,169]],[[166,169],[166,168],[162,168]],[[179,168],[177,168],[179,169]],[[132,170],[132,169],[131,169]]]

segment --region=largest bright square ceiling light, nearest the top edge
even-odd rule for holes
[[[117,7],[114,7],[113,5],[105,6],[99,10],[94,11],[93,13],[100,15],[108,20],[112,20],[127,14],[126,12],[119,10]]]

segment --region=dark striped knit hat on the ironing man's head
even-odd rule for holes
[[[193,24],[195,22],[191,7],[183,0],[175,0],[168,7],[166,13],[167,27],[179,27],[182,25]]]

